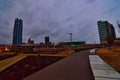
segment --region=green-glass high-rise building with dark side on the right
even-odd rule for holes
[[[115,29],[108,21],[98,21],[100,43],[112,43],[116,38]]]

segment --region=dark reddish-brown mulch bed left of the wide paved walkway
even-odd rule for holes
[[[0,72],[0,80],[21,80],[62,58],[28,56]]]

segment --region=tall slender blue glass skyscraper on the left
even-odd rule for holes
[[[13,44],[22,44],[22,30],[23,30],[23,20],[15,19],[14,30],[13,30]]]

